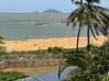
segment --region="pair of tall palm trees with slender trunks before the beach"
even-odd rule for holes
[[[73,0],[72,0],[73,1]],[[107,9],[94,5],[95,2],[99,0],[86,0],[86,3],[76,1],[78,8],[74,10],[70,15],[67,18],[67,25],[72,23],[73,27],[79,26],[77,33],[77,45],[76,51],[78,50],[79,35],[84,26],[87,26],[87,48],[89,49],[89,36],[90,33],[97,39],[96,36],[99,36],[101,32],[105,36],[108,35],[107,27],[109,26],[109,16],[106,14]]]

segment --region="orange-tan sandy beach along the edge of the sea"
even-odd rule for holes
[[[99,36],[98,40],[90,37],[90,44],[102,45],[107,38]],[[63,47],[63,48],[75,48],[76,37],[65,37],[65,38],[42,38],[42,39],[26,39],[26,40],[4,40],[4,47],[7,51],[28,51],[28,50],[39,50],[47,49],[48,47]],[[87,38],[80,37],[79,47],[85,47],[87,45]]]

